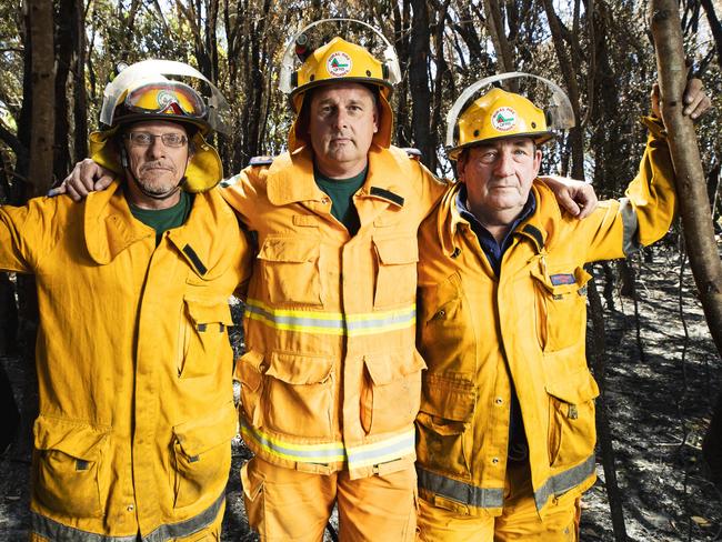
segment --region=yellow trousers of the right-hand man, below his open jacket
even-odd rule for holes
[[[419,542],[578,542],[580,491],[555,498],[542,521],[537,511],[529,462],[510,463],[501,515],[473,515],[419,500]]]

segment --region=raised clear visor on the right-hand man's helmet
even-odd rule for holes
[[[495,82],[512,79],[527,80],[527,82],[537,83],[537,93],[541,96],[532,101],[544,110],[546,128],[549,130],[568,130],[574,127],[574,111],[566,93],[561,89],[561,87],[543,77],[512,71],[481,79],[468,87],[461,93],[447,114],[447,149],[453,149],[457,147],[455,128],[459,121],[459,114],[467,108],[469,101],[474,97],[474,94],[482,93],[480,92],[481,90],[487,92]]]

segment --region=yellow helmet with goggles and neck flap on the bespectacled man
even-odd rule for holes
[[[204,81],[211,88],[207,103],[198,91],[164,74],[184,76]],[[119,127],[147,120],[168,120],[192,127],[193,154],[188,163],[183,190],[204,192],[223,178],[215,149],[204,136],[222,130],[221,114],[228,108],[222,94],[190,66],[166,60],[146,60],[126,68],[106,87],[100,122],[104,130],[89,136],[90,158],[122,174],[118,149],[112,144]],[[110,144],[109,144],[110,143]]]

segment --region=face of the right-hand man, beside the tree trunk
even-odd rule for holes
[[[484,215],[513,214],[513,220],[527,203],[540,164],[541,151],[529,138],[472,147],[458,165],[459,180],[467,184],[470,210]]]

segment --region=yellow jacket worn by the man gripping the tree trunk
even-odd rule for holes
[[[594,398],[584,354],[586,262],[660,239],[674,215],[661,128],[620,201],[585,220],[563,214],[534,181],[535,212],[514,231],[495,277],[455,197],[420,228],[419,350],[429,370],[417,419],[421,495],[467,514],[500,514],[509,444],[510,377],[521,405],[537,508],[594,478]]]

